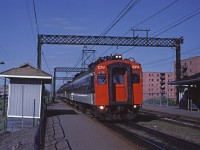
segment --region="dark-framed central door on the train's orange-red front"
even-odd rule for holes
[[[115,63],[109,69],[109,101],[110,104],[131,104],[131,67],[124,63]]]

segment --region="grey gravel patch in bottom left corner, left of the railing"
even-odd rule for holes
[[[0,135],[0,150],[34,149],[34,136],[37,127],[26,128],[13,133]]]

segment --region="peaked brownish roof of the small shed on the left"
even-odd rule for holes
[[[34,79],[43,79],[50,80],[52,79],[51,75],[33,67],[29,63],[25,63],[17,68],[12,68],[0,73],[0,77],[6,78],[34,78]]]

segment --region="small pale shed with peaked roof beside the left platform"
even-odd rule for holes
[[[26,63],[18,68],[4,71],[0,73],[0,76],[10,79],[7,109],[8,125],[9,120],[40,119],[42,92],[44,84],[51,84],[51,75]],[[11,124],[13,128],[14,123]]]

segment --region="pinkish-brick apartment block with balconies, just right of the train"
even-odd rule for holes
[[[143,99],[156,98],[161,95],[175,99],[176,88],[168,85],[174,80],[174,72],[143,72]]]

